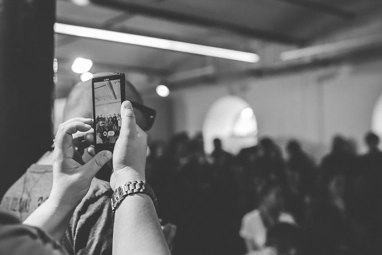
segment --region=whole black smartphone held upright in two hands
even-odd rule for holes
[[[125,74],[92,79],[95,152],[114,150],[121,131],[121,104],[125,100]]]

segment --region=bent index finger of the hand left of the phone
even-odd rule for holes
[[[72,157],[73,150],[69,149],[72,146],[72,134],[77,131],[85,132],[91,129],[91,125],[81,121],[62,123],[54,139],[54,148],[58,155],[63,157]]]

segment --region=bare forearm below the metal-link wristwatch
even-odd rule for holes
[[[115,213],[113,255],[170,254],[151,198],[126,197]]]

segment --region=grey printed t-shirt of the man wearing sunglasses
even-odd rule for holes
[[[6,192],[0,209],[24,221],[48,198],[52,180],[51,165],[33,164]],[[69,254],[112,254],[112,194],[109,183],[93,179],[61,240]]]

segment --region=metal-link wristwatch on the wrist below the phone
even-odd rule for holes
[[[158,199],[156,198],[154,194],[154,190],[151,188],[151,186],[144,181],[132,181],[132,182],[127,182],[124,185],[119,186],[114,191],[114,194],[112,195],[113,213],[116,211],[117,207],[126,196],[139,194],[139,193],[146,194],[149,197],[151,197],[154,203],[154,207],[156,209],[158,205]]]

